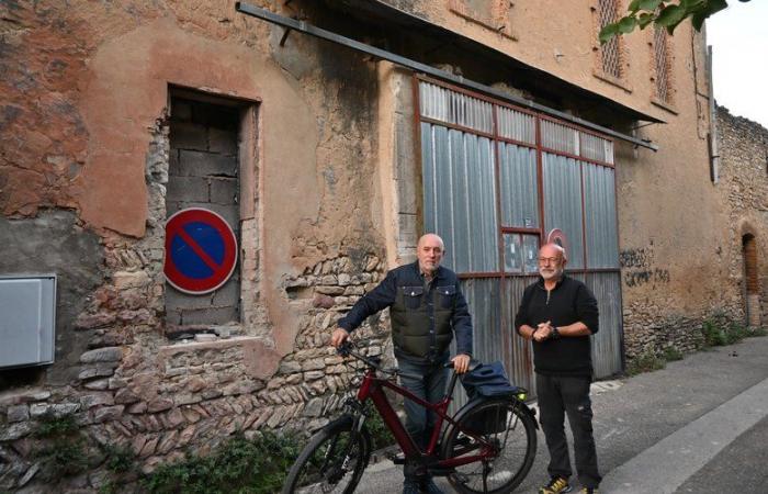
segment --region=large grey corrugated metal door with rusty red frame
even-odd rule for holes
[[[530,344],[513,335],[523,289],[538,276],[545,232],[569,242],[568,271],[600,305],[596,377],[622,366],[613,143],[460,88],[418,79],[423,225],[445,240],[462,278],[475,352],[502,360],[533,390]],[[542,221],[543,218],[543,221]]]

